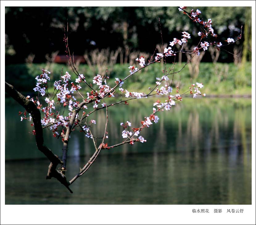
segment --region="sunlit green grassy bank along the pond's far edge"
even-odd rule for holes
[[[175,71],[179,71],[182,65],[175,65]],[[110,77],[110,86],[114,86],[115,78],[123,79],[129,74],[127,65],[116,64],[109,69],[108,76]],[[172,64],[167,64],[167,68]],[[242,95],[251,94],[252,85],[252,67],[251,62],[247,62],[243,70],[233,63],[201,63],[200,72],[198,76],[190,74],[188,66],[186,66],[180,73],[174,75],[173,86],[177,86],[180,82],[180,88],[187,90],[190,83],[202,82],[204,84],[204,92],[210,94],[221,95]],[[51,71],[51,82],[48,84],[50,90],[52,88],[52,81],[60,78],[61,71],[68,71],[72,78],[76,76],[72,73],[69,66],[64,64],[14,64],[5,67],[5,80],[13,84],[18,90],[31,94],[35,87],[35,76],[39,75],[41,69],[45,68]],[[80,64],[77,68],[79,73],[84,74],[87,82],[92,82],[93,76],[98,73],[97,67],[92,71],[88,65]],[[161,78],[163,75],[163,65],[155,63],[151,66],[134,74],[123,85],[124,89],[129,91],[147,92],[148,87],[153,87],[156,82],[156,77]],[[169,75],[171,79],[171,75]],[[181,79],[181,81],[180,81]],[[192,81],[191,81],[192,79]],[[53,89],[52,89],[53,90]],[[85,90],[87,92],[88,90]]]

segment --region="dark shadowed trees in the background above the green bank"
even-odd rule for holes
[[[251,15],[251,7],[193,8],[204,12],[202,18],[211,18],[222,36],[239,34],[246,14]],[[180,31],[192,30],[192,35],[197,35],[197,28],[177,13],[176,7],[6,7],[5,17],[6,64],[23,63],[29,54],[35,54],[34,62],[45,62],[45,55],[54,51],[65,54],[63,28],[67,21],[70,45],[78,55],[85,50],[116,50],[119,46],[153,52],[161,42],[158,18],[165,43]],[[211,61],[210,56],[205,60]],[[224,54],[221,60],[233,58]]]

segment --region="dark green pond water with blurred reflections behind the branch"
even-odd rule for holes
[[[45,180],[49,162],[24,132],[31,127],[19,121],[22,108],[6,105],[6,204],[251,204],[251,99],[191,100],[161,112],[159,123],[141,133],[146,143],[102,150],[72,195]],[[109,108],[109,144],[122,141],[121,122],[136,127],[151,113],[152,104],[142,103]],[[104,111],[91,119],[101,136]],[[61,141],[48,132],[45,139],[61,155]],[[79,132],[69,145],[68,179],[93,153]]]

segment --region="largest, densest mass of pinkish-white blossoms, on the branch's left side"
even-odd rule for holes
[[[37,83],[34,90],[38,91],[42,96],[44,96],[46,94],[45,91],[47,90],[47,86],[46,86],[47,80],[50,81],[50,78],[48,76],[50,72],[44,69],[42,71],[43,73],[39,76],[36,76],[35,78]],[[78,91],[81,89],[80,83],[85,82],[85,77],[83,74],[79,74],[78,78],[76,78],[76,83],[78,83],[76,85],[73,82],[70,82],[70,79],[71,79],[71,75],[68,72],[66,72],[63,76],[61,76],[61,80],[55,81],[53,84],[54,91],[56,91],[54,96],[56,96],[56,99],[59,102],[60,106],[64,106],[64,108],[68,106],[69,113],[67,116],[60,115],[60,110],[55,111],[56,102],[53,99],[54,97],[50,99],[53,96],[53,94],[52,96],[49,95],[44,99],[47,105],[41,104],[39,102],[38,97],[36,97],[36,100],[34,100],[33,98],[30,98],[30,96],[27,96],[27,98],[30,99],[32,102],[34,102],[37,105],[37,108],[44,113],[44,116],[41,119],[41,124],[43,127],[49,127],[50,130],[53,132],[54,137],[60,137],[60,135],[64,132],[64,129],[68,127],[69,119],[72,115],[73,108],[77,108],[79,105],[79,102],[76,101],[76,98],[72,96],[72,94],[74,93],[74,91]],[[96,81],[96,80],[97,80],[97,83],[100,84],[101,78],[99,76],[96,76],[93,79],[93,81]],[[84,105],[83,108],[87,109],[87,106]],[[83,115],[85,115],[85,112],[83,112]],[[31,121],[32,117],[30,116],[29,118],[27,118],[26,115],[24,114],[24,117],[21,117],[21,118],[22,120],[26,119]],[[78,114],[76,115],[76,119],[77,118],[78,118]],[[96,123],[96,121],[92,120],[91,123]],[[32,123],[31,126],[33,125],[34,124]],[[88,133],[89,129],[86,129],[86,131],[87,133],[85,136],[92,138],[91,135]],[[33,131],[33,134],[35,135],[35,131]]]

